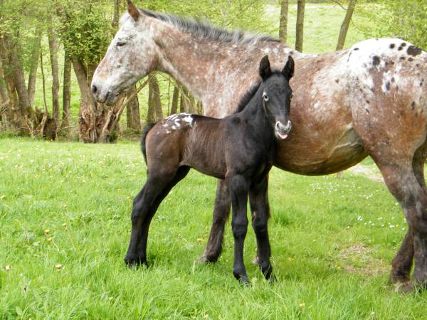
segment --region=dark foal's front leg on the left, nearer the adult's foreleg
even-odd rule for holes
[[[234,265],[233,274],[243,284],[249,284],[243,262],[243,245],[248,231],[248,216],[246,206],[248,204],[248,179],[242,175],[228,175],[226,177],[231,196],[231,209],[233,218],[231,228],[234,237]]]

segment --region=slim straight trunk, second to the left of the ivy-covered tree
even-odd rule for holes
[[[52,27],[48,28],[49,52],[52,67],[52,114],[56,127],[59,128],[59,71],[58,71],[58,41],[56,32]]]

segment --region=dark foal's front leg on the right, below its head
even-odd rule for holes
[[[268,206],[268,177],[251,186],[249,189],[249,203],[252,212],[252,226],[256,235],[257,258],[260,270],[266,279],[270,279],[273,267],[270,263],[270,241],[268,240],[268,218],[270,208]]]

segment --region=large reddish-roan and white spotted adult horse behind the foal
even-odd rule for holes
[[[404,209],[409,228],[392,262],[391,280],[411,289],[427,284],[427,53],[406,41],[371,39],[348,50],[304,55],[268,36],[223,31],[206,23],[137,9],[128,1],[120,30],[98,65],[92,90],[113,104],[153,70],[172,75],[204,104],[205,114],[231,114],[258,81],[253,61],[269,55],[279,68],[295,58],[290,119],[295,129],[280,142],[275,166],[295,174],[347,169],[367,155]],[[221,253],[230,210],[218,183],[214,222],[204,260]]]

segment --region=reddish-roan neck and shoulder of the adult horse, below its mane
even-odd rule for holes
[[[241,96],[258,81],[259,61],[264,55],[269,55],[273,68],[283,68],[292,51],[274,41],[236,45],[199,38],[167,24],[160,33],[160,70],[187,87],[211,117],[224,117],[236,110]]]

